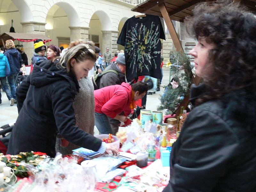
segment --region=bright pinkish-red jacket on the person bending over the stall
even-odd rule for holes
[[[103,113],[111,118],[124,111],[129,115],[132,100],[132,86],[128,83],[110,85],[94,91],[95,112]]]

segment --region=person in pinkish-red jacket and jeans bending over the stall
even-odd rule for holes
[[[137,82],[130,85],[111,85],[94,91],[95,125],[101,134],[113,134],[108,117],[125,122],[127,116],[136,108],[134,101],[143,98],[148,85]],[[124,115],[121,113],[124,111]]]

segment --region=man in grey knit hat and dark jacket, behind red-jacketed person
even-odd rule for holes
[[[105,69],[105,71],[114,70],[116,71],[116,73],[108,72],[103,74],[100,77],[100,88],[107,87],[110,85],[121,85],[122,83],[126,82],[126,78],[124,75],[125,69],[126,67],[124,53],[119,53],[116,62],[112,62],[111,65],[109,65]],[[113,130],[113,133],[116,134],[116,132],[118,132],[120,121],[118,121],[117,119],[113,119],[111,117],[108,117],[108,119]]]

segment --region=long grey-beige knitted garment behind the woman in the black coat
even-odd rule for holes
[[[94,130],[94,95],[93,85],[90,78],[86,77],[79,81],[79,92],[76,95],[73,108],[76,116],[76,126],[84,130],[87,133],[93,135]],[[56,140],[56,152],[60,152],[62,155],[72,154],[72,150],[79,148],[73,143],[69,143],[67,147],[60,146],[60,138]]]

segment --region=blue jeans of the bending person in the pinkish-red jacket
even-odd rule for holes
[[[108,120],[108,116],[106,116],[105,114],[95,112],[95,125],[99,130],[100,134],[113,134],[113,130]]]

